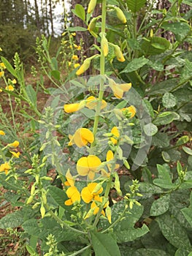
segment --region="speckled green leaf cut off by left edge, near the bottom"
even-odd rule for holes
[[[23,223],[22,211],[15,211],[12,214],[7,214],[0,219],[0,228],[19,227]]]

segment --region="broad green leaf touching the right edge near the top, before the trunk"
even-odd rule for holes
[[[162,28],[165,30],[172,31],[176,35],[176,39],[180,42],[182,41],[191,31],[191,27],[188,25],[188,23],[184,22],[174,22],[174,23],[164,23],[162,25]]]

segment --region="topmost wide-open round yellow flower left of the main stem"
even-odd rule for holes
[[[93,132],[91,132],[87,128],[79,128],[74,133],[74,135],[69,135],[70,141],[69,146],[72,146],[74,143],[77,147],[82,148],[83,146],[87,145],[88,143],[93,143],[94,136]]]

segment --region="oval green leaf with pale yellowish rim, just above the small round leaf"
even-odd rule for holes
[[[164,113],[160,113],[153,121],[155,125],[164,125],[170,124],[174,120],[178,120],[180,116],[175,112],[166,111]]]

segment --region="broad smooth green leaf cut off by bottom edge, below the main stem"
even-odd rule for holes
[[[91,231],[91,241],[96,256],[120,256],[120,250],[112,234]]]

